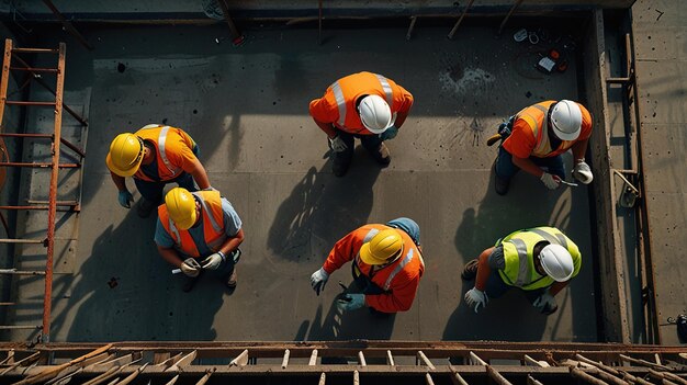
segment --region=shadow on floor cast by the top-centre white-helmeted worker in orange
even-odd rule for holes
[[[360,145],[341,178],[331,173],[331,157],[320,170],[311,167],[279,206],[268,248],[294,262],[309,257],[314,249],[328,252],[340,237],[368,222],[380,172],[381,167]]]

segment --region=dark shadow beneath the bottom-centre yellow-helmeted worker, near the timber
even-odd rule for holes
[[[319,305],[312,321],[303,321],[295,341],[341,341],[341,340],[388,340],[394,330],[395,314],[384,314],[371,308],[363,307],[356,310],[345,312],[337,306],[337,298],[344,293],[360,293],[356,282],[351,282],[346,291],[330,282],[334,290],[341,292],[336,295],[329,305],[326,315],[323,315],[323,306]],[[331,293],[329,293],[331,294]]]

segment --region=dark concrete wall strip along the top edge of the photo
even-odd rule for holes
[[[518,12],[542,12],[551,10],[589,10],[595,8],[627,9],[634,0],[528,0]],[[195,19],[206,18],[204,10],[216,8],[215,0],[54,0],[55,7],[71,20],[90,19]],[[297,18],[317,16],[318,2],[314,0],[260,0],[228,1],[235,18]],[[471,13],[505,13],[515,1],[477,0]],[[406,16],[414,14],[437,14],[451,16],[462,12],[468,1],[453,0],[348,0],[323,1],[325,16]],[[42,1],[0,0],[0,12],[11,14],[19,11],[26,19],[53,19],[53,14]]]

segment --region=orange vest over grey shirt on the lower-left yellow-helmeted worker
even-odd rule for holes
[[[193,196],[201,204],[201,217],[203,219],[203,231],[205,235],[205,245],[212,251],[216,252],[219,250],[222,245],[227,238],[227,235],[224,230],[224,211],[222,210],[222,196],[218,191],[198,191],[192,192]],[[167,234],[169,234],[174,240],[174,247],[181,251],[182,253],[193,257],[201,258],[205,256],[201,256],[198,251],[198,247],[193,241],[193,238],[189,234],[188,230],[180,230],[174,226],[174,223],[169,218],[169,213],[167,212],[167,205],[160,205],[157,210],[157,213],[160,218],[160,223]]]

